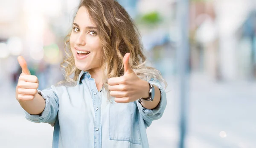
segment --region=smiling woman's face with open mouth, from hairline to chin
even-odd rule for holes
[[[79,8],[70,35],[70,47],[79,70],[92,71],[100,67],[102,44],[96,25],[85,7]]]

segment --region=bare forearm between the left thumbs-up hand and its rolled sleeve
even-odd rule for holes
[[[19,101],[19,103],[29,114],[41,114],[45,108],[45,100],[38,93],[32,101]]]

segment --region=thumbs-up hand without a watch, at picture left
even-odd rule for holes
[[[20,74],[16,87],[16,99],[19,102],[31,101],[38,93],[38,78],[30,74],[26,61],[22,56],[19,56],[17,60],[22,68],[22,73]]]

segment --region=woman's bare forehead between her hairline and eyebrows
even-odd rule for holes
[[[78,24],[81,27],[95,26],[93,21],[90,19],[87,8],[85,8],[84,6],[78,9],[74,23]]]

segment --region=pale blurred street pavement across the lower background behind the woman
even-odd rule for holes
[[[166,112],[147,129],[151,148],[177,147],[179,101],[175,78],[167,80],[166,90],[170,92]],[[50,148],[53,128],[46,123],[27,121],[15,100],[15,88],[8,86],[8,79],[3,83],[0,148]],[[189,89],[188,148],[255,148],[255,82],[213,83],[203,75],[194,74]]]

